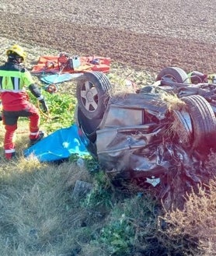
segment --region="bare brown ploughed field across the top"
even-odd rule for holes
[[[213,0],[2,0],[2,37],[159,72],[216,72]],[[1,43],[0,43],[1,44]]]

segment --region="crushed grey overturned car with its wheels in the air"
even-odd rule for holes
[[[110,177],[144,178],[164,188],[162,197],[178,181],[190,188],[207,178],[204,161],[216,148],[216,84],[190,80],[181,68],[164,68],[151,86],[113,96],[103,73],[80,77],[79,134]]]

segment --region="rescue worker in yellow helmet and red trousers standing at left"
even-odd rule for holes
[[[30,103],[26,88],[29,88],[33,96],[37,97],[44,112],[48,111],[48,107],[30,72],[22,65],[26,58],[23,47],[15,44],[6,51],[6,55],[7,61],[0,66],[0,93],[2,120],[5,125],[5,159],[11,160],[13,156],[16,156],[13,139],[19,117],[28,117],[30,120],[30,146],[44,137],[44,132],[39,131],[39,111]]]

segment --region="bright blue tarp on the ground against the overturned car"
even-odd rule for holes
[[[77,125],[61,128],[48,135],[37,144],[24,150],[24,156],[35,156],[40,162],[53,162],[67,159],[71,154],[89,155],[85,144],[78,135]]]

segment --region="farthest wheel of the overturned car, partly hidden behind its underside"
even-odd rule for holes
[[[178,82],[178,83],[189,83],[190,80],[188,75],[182,68],[168,67],[163,68],[159,75],[157,75],[156,81],[167,81],[167,82]]]

